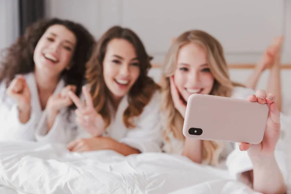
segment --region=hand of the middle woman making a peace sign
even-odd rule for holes
[[[82,88],[85,98],[85,104],[81,102],[73,92],[68,95],[77,106],[76,119],[78,124],[93,136],[100,136],[105,130],[105,123],[102,116],[96,112],[89,89],[85,86]]]

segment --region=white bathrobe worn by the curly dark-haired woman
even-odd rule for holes
[[[78,137],[89,137],[86,131],[78,129],[75,122],[71,122],[75,115],[73,111],[70,111],[68,117],[67,108],[60,110],[53,127],[46,134],[47,112],[41,109],[34,74],[26,74],[24,78],[31,92],[31,117],[25,124],[19,121],[17,104],[12,98],[5,95],[6,88],[4,83],[1,83],[0,141],[68,143]],[[60,93],[64,87],[65,81],[59,81],[54,94]]]

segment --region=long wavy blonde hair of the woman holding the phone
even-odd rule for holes
[[[170,133],[173,133],[174,137],[178,140],[184,141],[185,139],[182,133],[184,118],[174,107],[170,91],[169,78],[174,75],[177,68],[179,49],[189,43],[199,45],[207,52],[210,72],[214,77],[214,84],[210,95],[230,97],[234,87],[244,87],[242,84],[230,80],[223,48],[213,36],[199,30],[192,30],[182,33],[173,41],[162,67],[161,85],[163,101],[161,104],[161,109],[164,118],[163,121],[165,123],[163,135],[165,141],[167,142],[170,141]],[[217,165],[219,156],[223,150],[223,143],[206,140],[203,140],[202,142],[204,161],[210,165]]]

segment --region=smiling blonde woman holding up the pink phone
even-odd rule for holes
[[[197,163],[204,162],[218,166],[234,149],[234,146],[230,143],[194,140],[183,136],[182,127],[187,100],[192,94],[248,98],[250,101],[268,103],[271,108],[266,131],[272,133],[274,129],[280,130],[280,126],[278,129],[278,125],[272,120],[273,118],[280,118],[280,113],[273,103],[273,95],[269,94],[267,96],[265,91],[259,90],[255,96],[252,89],[231,81],[221,44],[206,32],[188,31],[175,39],[166,55],[162,73],[162,115],[164,124],[162,149],[165,152],[182,154]],[[276,119],[275,122],[280,122],[280,119]],[[278,137],[278,135],[274,135],[271,138],[273,144],[265,139],[263,140],[261,144],[272,148],[269,150],[262,148],[254,151],[253,147],[255,146],[249,149],[247,144],[242,144],[240,148],[242,150],[249,149],[248,153],[252,162],[252,159],[259,161],[263,157],[268,158],[267,155],[272,156]],[[255,156],[260,157],[256,158]],[[258,160],[255,160],[255,158]],[[270,157],[269,159],[273,158]],[[254,189],[257,191],[267,189],[271,193],[272,191],[285,191],[286,187],[277,163],[271,163],[269,167],[274,169],[273,173],[276,181],[273,180],[273,185],[265,186],[264,184],[269,181],[262,180],[257,173],[254,173],[254,180],[256,180],[253,181]],[[266,172],[263,171],[263,173]],[[265,187],[262,188],[262,185]]]

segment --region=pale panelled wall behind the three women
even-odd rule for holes
[[[228,63],[256,63],[272,37],[284,34],[282,62],[291,63],[291,0],[47,0],[47,7],[47,16],[79,21],[96,37],[115,24],[131,28],[154,63],[162,63],[172,38],[190,29],[214,35]],[[230,75],[244,82],[251,71],[230,70]],[[268,73],[260,88],[266,87]],[[150,74],[160,79],[159,69]],[[287,97],[291,71],[282,71],[282,82]]]

